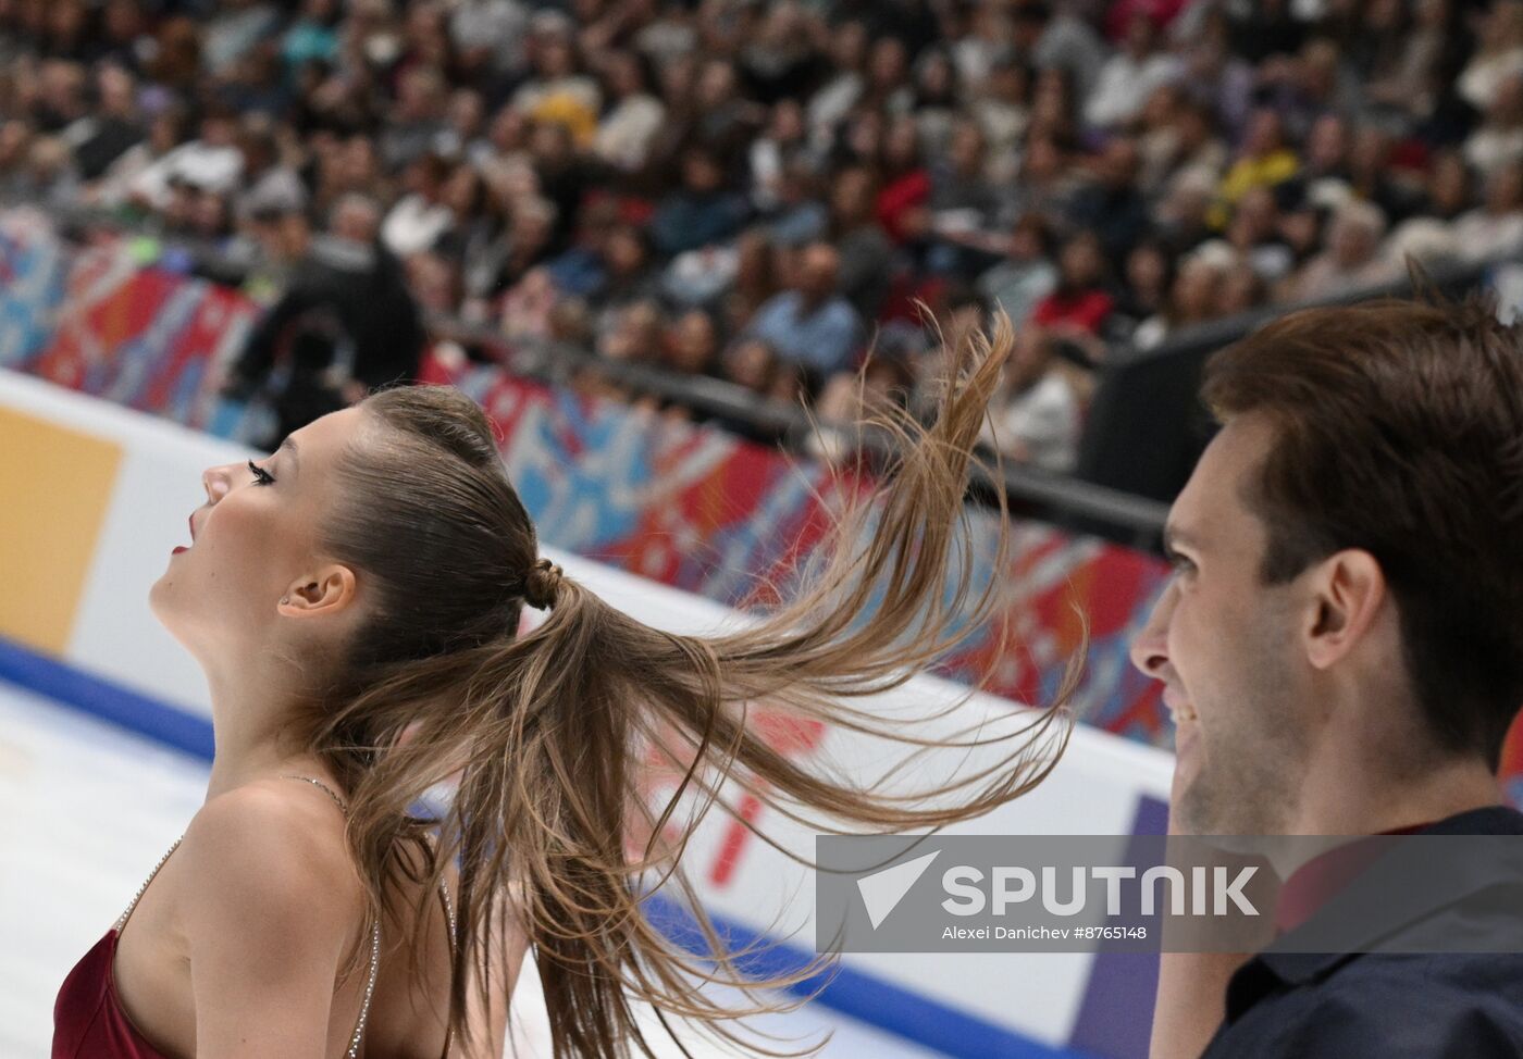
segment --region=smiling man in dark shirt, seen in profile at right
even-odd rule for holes
[[[1523,704],[1520,330],[1383,300],[1208,362],[1223,426],[1132,647],[1177,721],[1171,832],[1523,835],[1496,779]],[[1485,882],[1456,870],[1380,930],[1444,931]],[[1333,896],[1310,892],[1298,922]],[[1523,952],[1165,954],[1153,1056],[1200,1054],[1523,1056]]]

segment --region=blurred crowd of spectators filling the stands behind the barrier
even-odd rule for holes
[[[245,269],[235,388],[324,310],[335,402],[426,320],[850,421],[999,307],[1062,472],[1109,350],[1523,250],[1523,0],[0,0],[0,195]]]

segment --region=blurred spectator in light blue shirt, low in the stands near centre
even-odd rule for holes
[[[825,242],[810,243],[798,262],[792,291],[757,310],[749,333],[784,361],[804,364],[822,376],[851,367],[862,342],[862,323],[839,292],[841,256]]]

